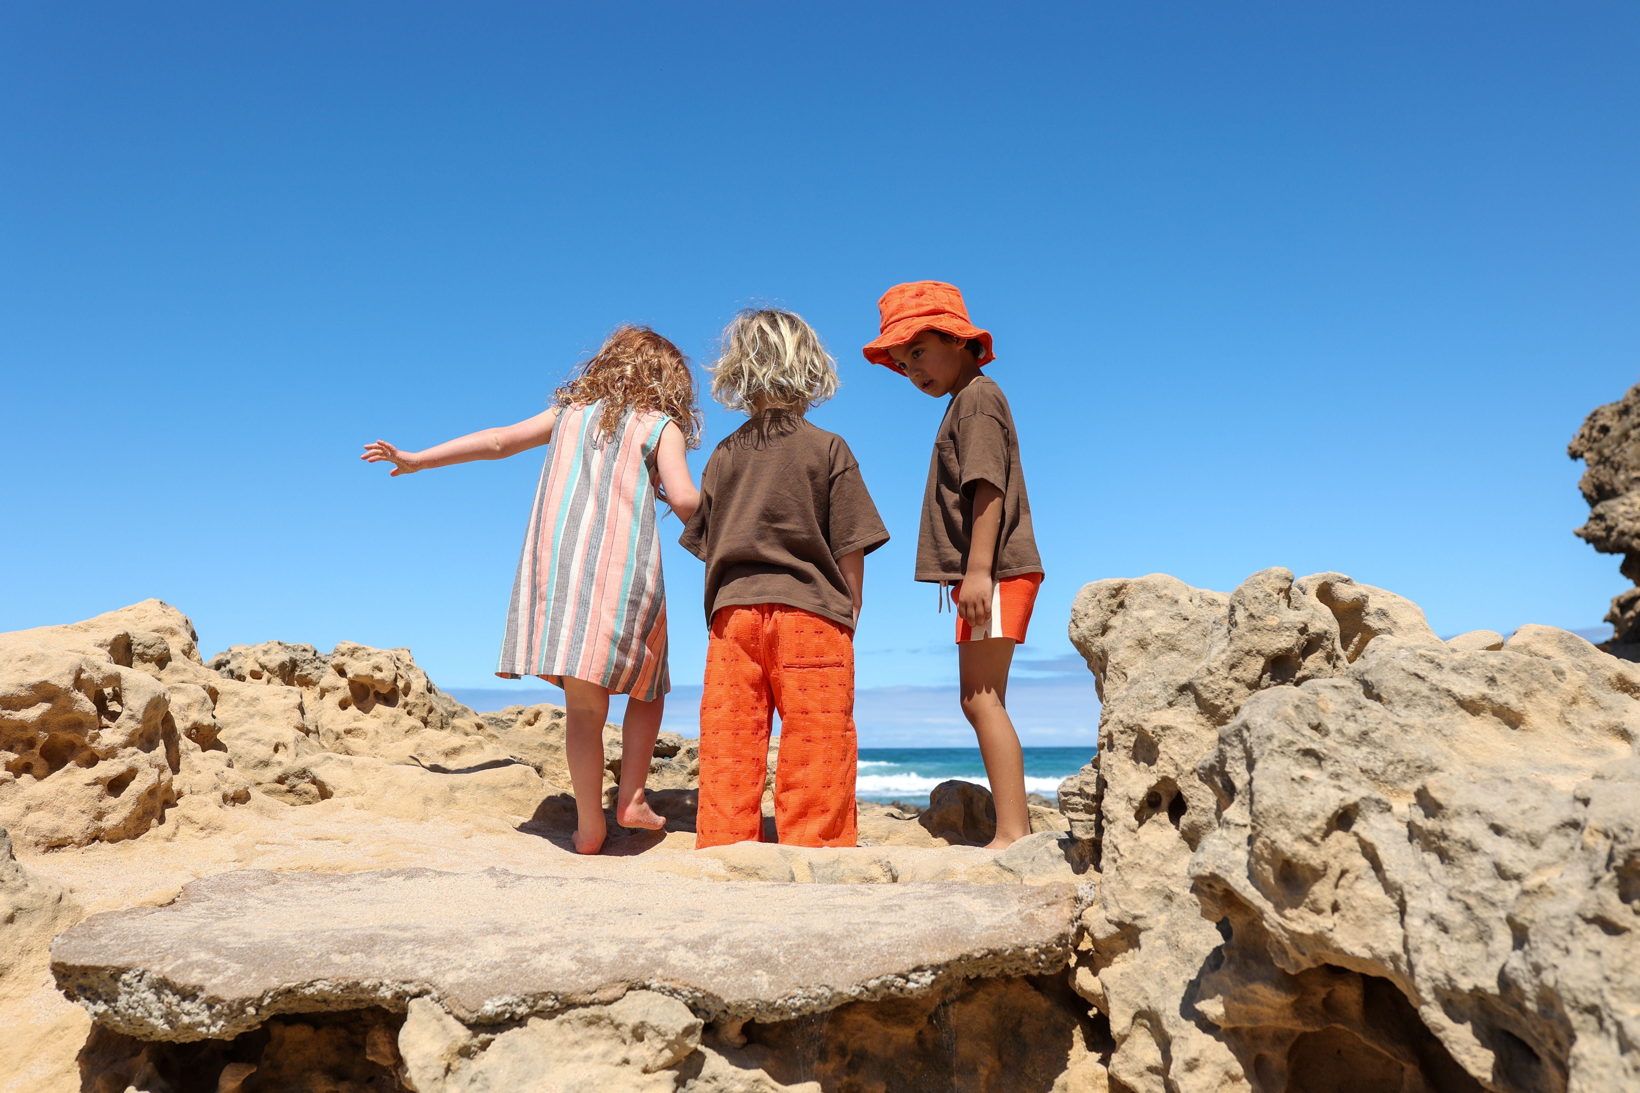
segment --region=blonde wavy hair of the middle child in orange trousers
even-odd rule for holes
[[[723,328],[712,398],[727,410],[804,413],[836,393],[836,361],[804,318],[781,308],[748,308]]]

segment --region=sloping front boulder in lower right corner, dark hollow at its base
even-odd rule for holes
[[[1468,1072],[1438,1088],[1640,1083],[1637,695],[1640,669],[1528,626],[1502,651],[1379,641],[1250,698],[1202,765],[1223,816],[1191,875],[1261,944],[1227,949],[1200,1013],[1274,1073],[1319,1018],[1271,991],[1389,990]],[[1363,1021],[1379,1054],[1407,1024]]]

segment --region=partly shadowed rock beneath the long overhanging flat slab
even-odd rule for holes
[[[276,1016],[233,1041],[138,1041],[95,1027],[79,1062],[97,1090],[1104,1093],[1105,1045],[1061,977],[1033,975],[713,1026],[645,990],[513,1026],[462,1024],[413,998],[403,1018]]]

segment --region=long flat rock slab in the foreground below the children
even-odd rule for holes
[[[1071,885],[248,870],[194,882],[164,908],[92,916],[57,937],[52,972],[98,1023],[169,1041],[412,998],[467,1024],[518,1021],[633,988],[704,1019],[787,1019],[951,977],[1061,968],[1074,909]]]

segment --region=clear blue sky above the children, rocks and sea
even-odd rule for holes
[[[1064,629],[1100,577],[1594,626],[1627,582],[1565,446],[1640,379],[1637,56],[1632,3],[8,3],[0,629],[159,596],[207,655],[500,687],[540,452],[389,480],[359,447],[531,416],[623,321],[708,361],[774,302],[894,534],[863,739],[971,741],[910,580],[941,405],[859,356],[913,279],[994,333],[1022,433],[1028,741],[1092,739]]]

